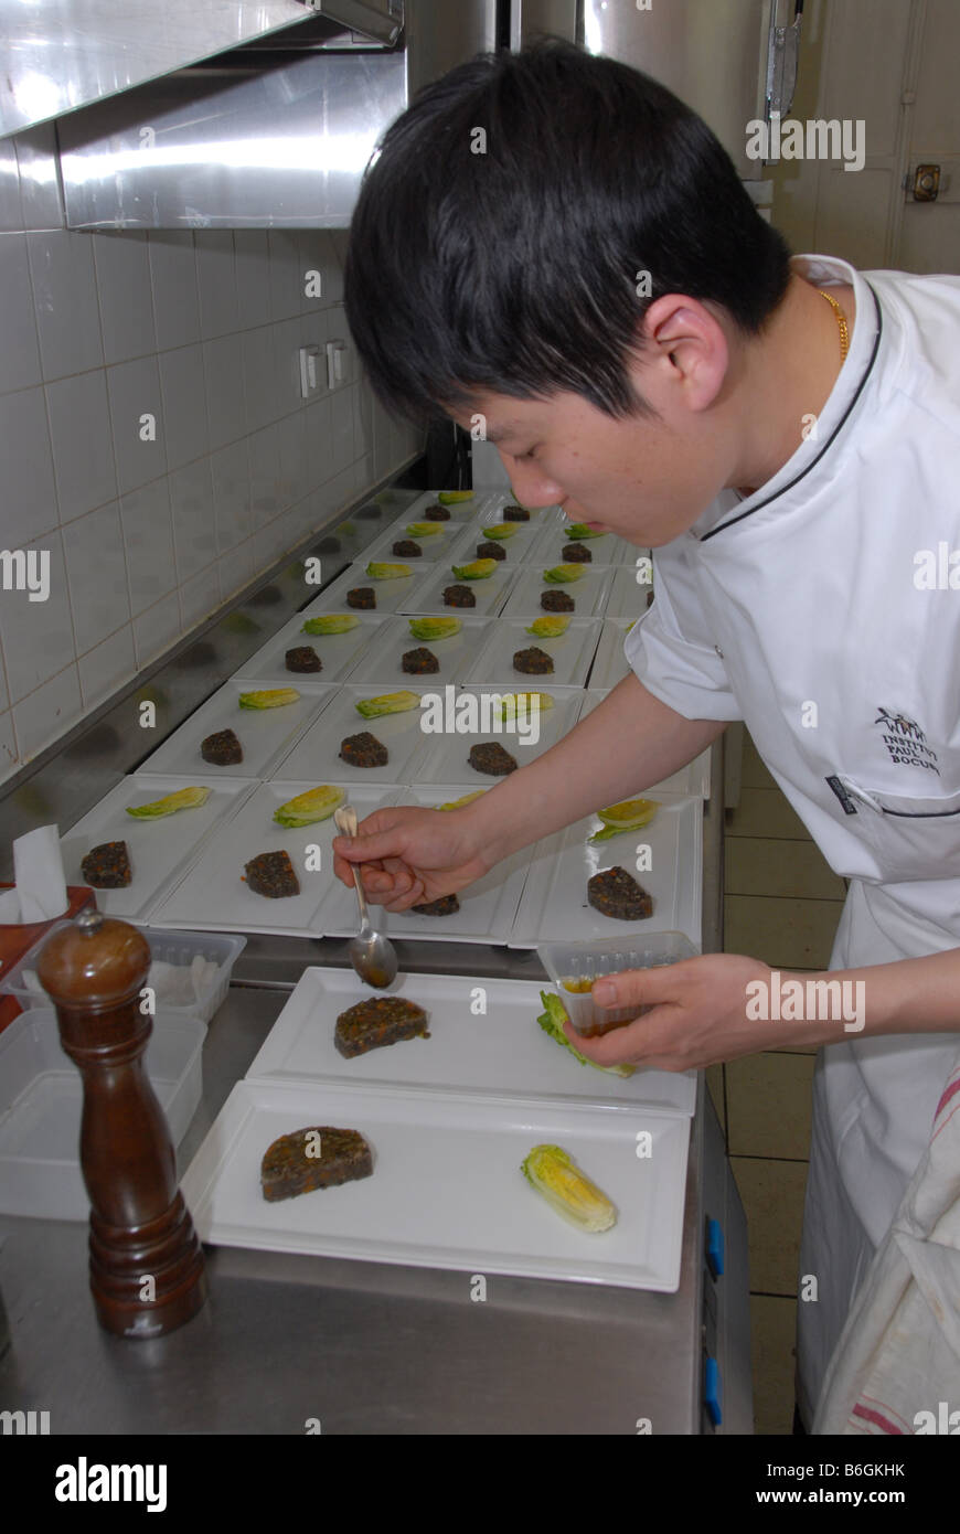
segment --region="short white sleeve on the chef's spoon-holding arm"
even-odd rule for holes
[[[655,555],[656,600],[636,620],[624,655],[644,687],[684,719],[742,719],[684,552]],[[643,592],[643,586],[638,586]]]

